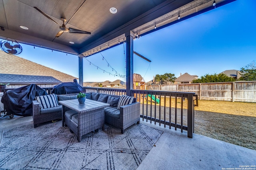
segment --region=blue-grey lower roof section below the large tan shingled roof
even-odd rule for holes
[[[60,84],[60,80],[52,76],[31,76],[20,74],[0,74],[0,82],[2,83],[29,83],[29,84]]]

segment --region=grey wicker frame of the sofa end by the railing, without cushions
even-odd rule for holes
[[[110,96],[120,97],[115,95]],[[136,98],[134,98],[134,101],[136,101]],[[121,133],[123,134],[126,128],[135,123],[140,123],[140,102],[121,106],[119,118],[105,114],[105,122],[120,128]]]

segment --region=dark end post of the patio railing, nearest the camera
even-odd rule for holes
[[[193,94],[188,94],[188,137],[193,138],[194,129],[194,100]]]

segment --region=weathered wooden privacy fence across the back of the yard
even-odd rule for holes
[[[150,85],[147,90],[193,92],[200,100],[256,102],[256,81]]]

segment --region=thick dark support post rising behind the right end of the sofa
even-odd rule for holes
[[[133,89],[133,38],[134,33],[125,33],[126,37],[126,95],[132,96]]]

